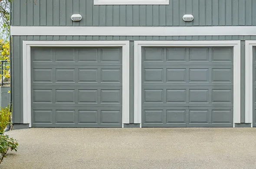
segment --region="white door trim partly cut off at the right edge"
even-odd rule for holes
[[[245,123],[253,127],[253,46],[255,40],[245,41]]]

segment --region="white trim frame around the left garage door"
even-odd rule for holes
[[[122,47],[122,127],[129,123],[129,41],[23,41],[23,123],[31,127],[31,47]]]

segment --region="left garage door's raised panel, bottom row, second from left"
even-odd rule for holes
[[[56,123],[75,123],[75,110],[56,110]]]

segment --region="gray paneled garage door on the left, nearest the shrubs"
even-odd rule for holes
[[[121,127],[121,48],[33,48],[32,127]]]

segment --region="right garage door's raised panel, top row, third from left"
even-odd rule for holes
[[[189,61],[209,61],[209,49],[208,48],[190,48],[189,49]]]

